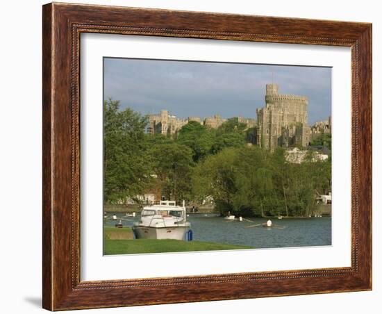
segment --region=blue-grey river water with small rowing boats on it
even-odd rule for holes
[[[122,220],[124,226],[133,226],[133,222],[139,220],[139,217],[126,217],[126,213],[116,213],[116,215]],[[252,222],[229,221],[223,217],[208,214],[190,214],[188,217],[193,240],[197,241],[247,245],[256,248],[331,245],[331,217],[272,220],[279,228],[263,226],[245,228],[267,222],[262,218],[248,218],[248,220]],[[113,220],[108,220],[105,226],[114,226],[115,223]]]

